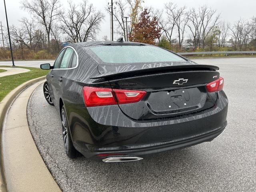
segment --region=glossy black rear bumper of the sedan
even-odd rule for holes
[[[90,108],[80,108],[82,111],[76,109],[76,112],[85,113],[85,116],[78,118],[69,112],[73,144],[92,160],[104,159],[96,156],[101,153],[122,153],[144,158],[211,141],[226,127],[228,99],[221,91],[218,92],[216,105],[207,111],[158,122],[136,122],[124,116],[118,107],[111,112],[109,106],[103,107],[102,112],[107,111],[107,114],[99,114],[100,109],[96,112]]]

